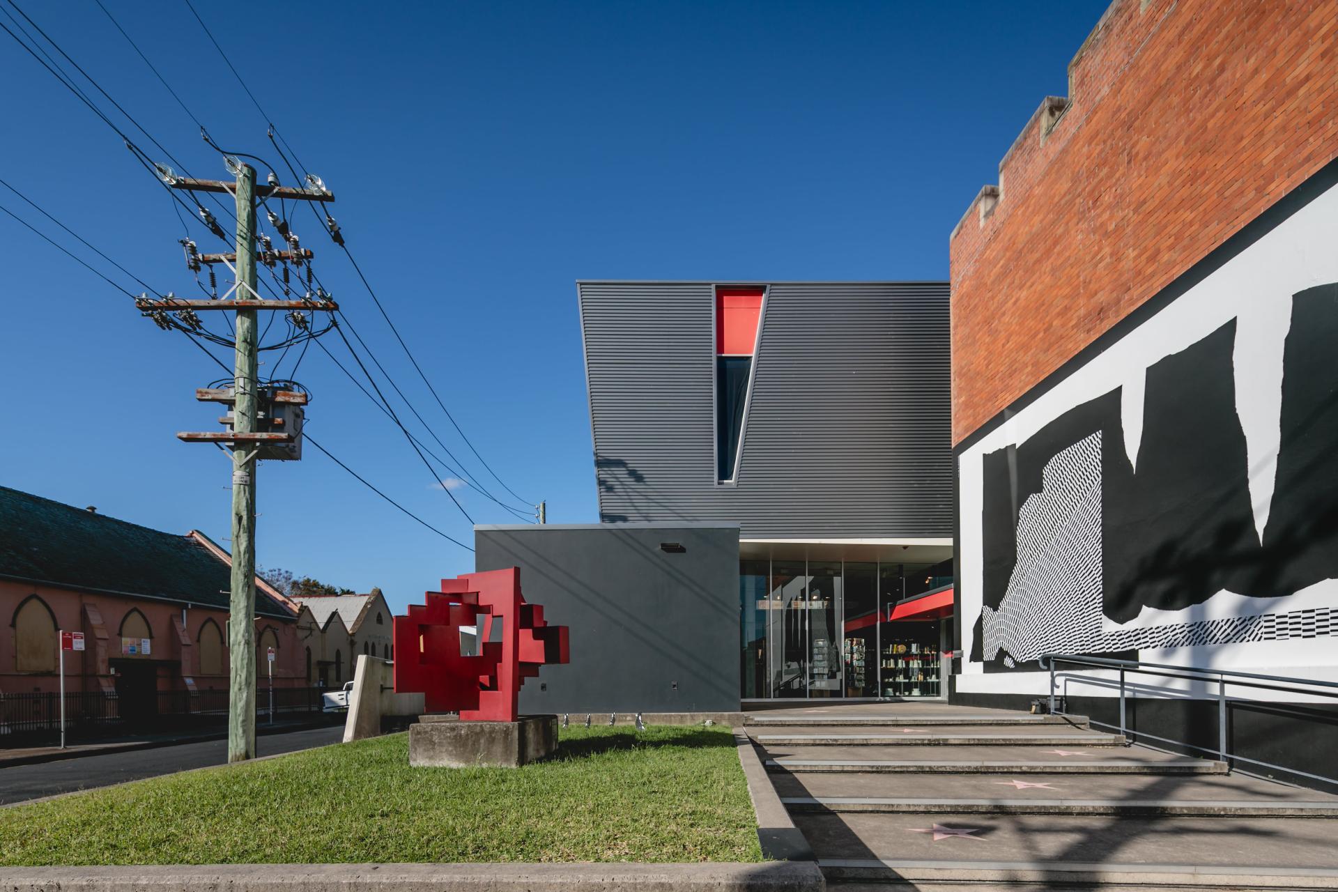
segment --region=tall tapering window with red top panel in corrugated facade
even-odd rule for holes
[[[735,479],[752,378],[760,288],[716,289],[716,476]]]

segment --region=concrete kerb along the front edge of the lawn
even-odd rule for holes
[[[820,892],[814,863],[0,868],[3,892]]]

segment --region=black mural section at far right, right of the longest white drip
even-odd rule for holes
[[[1282,444],[1264,559],[1250,591],[1338,578],[1338,284],[1297,293],[1283,353]]]

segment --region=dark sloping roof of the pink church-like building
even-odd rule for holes
[[[226,611],[227,552],[201,539],[0,487],[0,576],[8,579]],[[262,584],[256,612],[294,618]]]

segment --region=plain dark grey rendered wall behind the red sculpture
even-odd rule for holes
[[[474,543],[476,570],[520,567],[526,600],[570,630],[571,662],[526,682],[522,713],[739,709],[737,524],[476,527]]]

